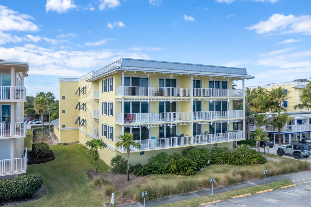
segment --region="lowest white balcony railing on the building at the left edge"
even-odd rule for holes
[[[27,148],[17,149],[20,158],[0,160],[0,175],[10,173],[26,173]]]

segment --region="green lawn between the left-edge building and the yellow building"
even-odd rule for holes
[[[87,156],[83,145],[72,143],[51,146],[50,149],[55,154],[55,160],[27,167],[27,173],[40,173],[43,176],[46,195],[34,202],[17,206],[102,207],[108,202],[89,182],[86,171],[95,169],[95,164]],[[102,160],[98,162],[99,172],[108,172],[109,169]]]

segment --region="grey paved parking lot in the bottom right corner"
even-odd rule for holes
[[[226,200],[224,202],[205,205],[206,207],[310,207],[311,206],[311,187],[310,186],[294,186],[281,190],[270,191],[258,195],[250,195],[249,197]]]

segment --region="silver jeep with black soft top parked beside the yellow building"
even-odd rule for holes
[[[311,153],[306,144],[289,143],[277,148],[277,155],[282,156],[283,154],[292,154],[295,159],[300,159],[301,157],[308,158]]]

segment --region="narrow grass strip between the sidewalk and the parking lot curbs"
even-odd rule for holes
[[[230,199],[233,196],[237,196],[237,195],[244,195],[244,194],[248,194],[248,193],[253,194],[253,193],[256,193],[258,191],[263,191],[263,190],[267,190],[267,189],[278,189],[282,186],[288,186],[288,185],[292,185],[292,184],[293,183],[288,181],[288,180],[282,180],[282,181],[278,181],[278,182],[268,183],[268,184],[266,184],[266,186],[264,186],[264,185],[253,186],[253,187],[243,188],[240,190],[218,193],[218,194],[215,194],[213,197],[211,195],[209,195],[209,196],[204,196],[204,197],[199,197],[199,198],[192,198],[192,199],[188,199],[188,200],[183,200],[183,201],[179,201],[179,202],[175,202],[175,203],[169,203],[169,204],[165,204],[165,205],[157,205],[156,207],[197,207],[197,206],[201,205],[201,203],[207,203],[207,202],[211,202],[211,201],[215,201],[215,200],[227,200],[227,199]]]

